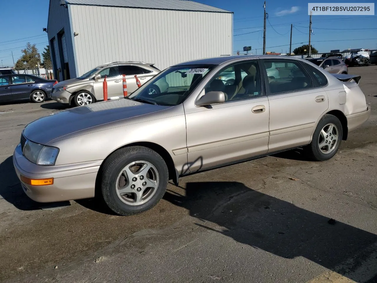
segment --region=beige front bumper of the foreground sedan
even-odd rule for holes
[[[13,154],[14,169],[24,192],[32,200],[38,202],[94,197],[95,180],[100,165],[92,165],[99,162],[85,163],[84,166],[90,166],[81,168],[77,164],[40,166],[30,162],[22,155],[20,144]],[[48,186],[27,185],[21,181],[21,175],[30,179],[54,178],[54,184]]]

